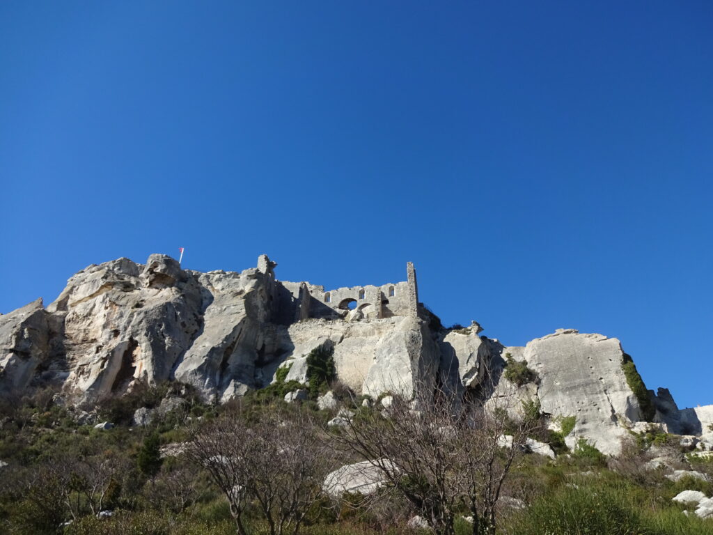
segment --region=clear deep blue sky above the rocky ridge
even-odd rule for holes
[[[0,312],[150,253],[618,337],[713,403],[709,1],[0,3]]]

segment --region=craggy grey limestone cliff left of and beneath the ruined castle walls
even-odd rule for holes
[[[440,356],[425,322],[393,313],[303,317],[319,304],[306,284],[277,281],[274,267],[264,255],[240,273],[182,270],[165,255],[86,267],[46,310],[38,301],[0,317],[0,384],[36,380],[96,401],[136,382],[179,380],[225,402],[270,384],[285,361],[287,380],[307,382],[307,355],[320,345],[357,393],[412,396],[434,384]]]

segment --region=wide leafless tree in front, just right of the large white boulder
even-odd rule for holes
[[[485,381],[465,397],[438,387],[432,402],[395,395],[382,412],[356,414],[334,442],[378,468],[436,533],[453,534],[456,511],[467,508],[473,534],[493,534],[503,482],[538,417],[517,397],[493,394],[491,374]]]

